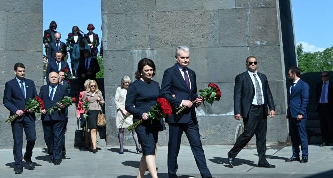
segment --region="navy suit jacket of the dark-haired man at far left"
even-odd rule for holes
[[[32,80],[24,79],[26,97],[21,90],[21,86],[18,84],[16,78],[6,82],[6,86],[3,92],[3,105],[10,111],[10,116],[16,114],[17,110],[24,110],[25,104],[29,98],[34,98],[37,96],[37,91],[35,83]],[[22,121],[24,117],[31,120],[36,120],[35,113],[24,113],[22,116],[18,117],[14,122]]]

